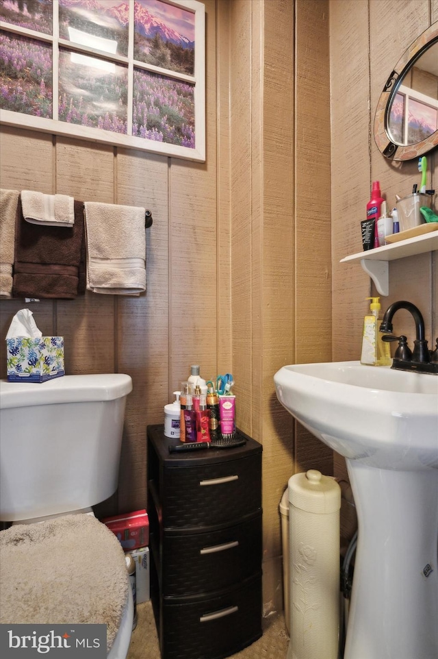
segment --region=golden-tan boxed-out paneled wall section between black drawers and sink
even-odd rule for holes
[[[268,612],[281,605],[287,480],[312,467],[333,472],[331,451],[296,427],[272,380],[285,364],[331,359],[328,5],[239,0],[218,8],[229,16],[218,30],[218,69],[229,62],[231,114],[219,126],[229,123],[231,148],[219,162],[230,158],[233,375],[245,403],[240,425],[263,444]]]

